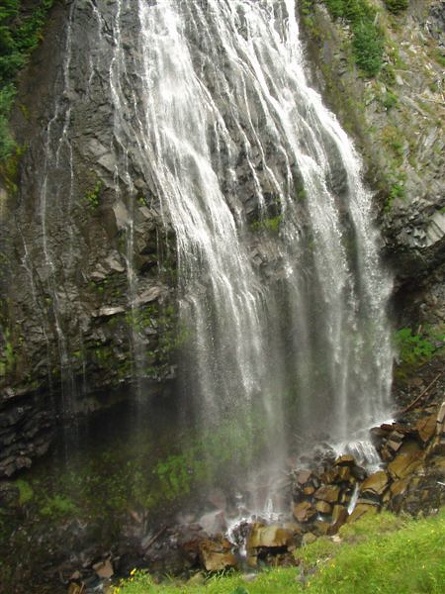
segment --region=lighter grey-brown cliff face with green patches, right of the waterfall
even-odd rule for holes
[[[315,84],[355,137],[378,192],[399,319],[442,324],[445,2],[410,2],[396,15],[383,2],[372,4],[385,36],[377,77],[367,79],[353,65],[350,30],[322,1],[301,5],[308,57]]]

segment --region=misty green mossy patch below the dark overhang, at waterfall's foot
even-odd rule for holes
[[[62,518],[96,518],[107,525],[105,538],[119,530],[128,510],[154,514],[208,485],[221,485],[222,474],[232,482],[246,473],[264,448],[264,425],[245,425],[245,415],[234,414],[203,437],[192,429],[161,435],[157,427],[141,425],[131,437],[124,432],[105,447],[89,447],[87,457],[73,452],[56,476],[32,469],[26,481],[15,482],[19,504],[48,527]]]

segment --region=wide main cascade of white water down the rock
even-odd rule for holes
[[[112,29],[116,179],[135,195],[131,162],[176,233],[190,406],[208,426],[260,403],[273,458],[346,440],[385,415],[390,279],[294,0],[118,0]]]

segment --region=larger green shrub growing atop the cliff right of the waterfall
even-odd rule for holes
[[[376,76],[383,65],[384,34],[376,9],[366,0],[325,0],[331,15],[346,21],[352,33],[352,54],[365,76]]]

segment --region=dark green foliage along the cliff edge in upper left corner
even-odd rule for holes
[[[17,73],[38,45],[45,16],[54,0],[2,0],[0,5],[0,161],[14,149],[8,119]]]

